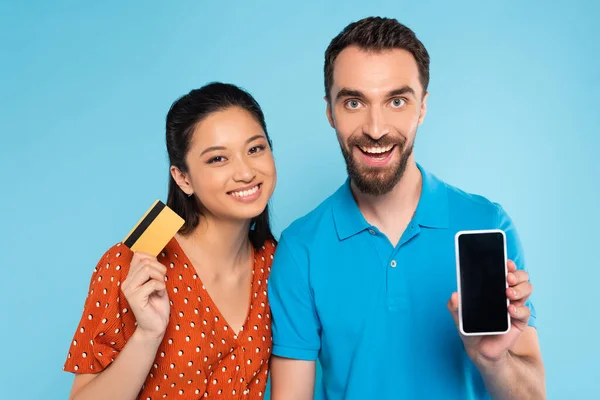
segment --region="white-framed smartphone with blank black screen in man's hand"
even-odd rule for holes
[[[463,335],[500,335],[510,329],[506,296],[506,235],[500,229],[455,235],[459,329]]]

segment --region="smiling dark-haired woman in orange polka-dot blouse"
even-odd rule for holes
[[[158,257],[118,243],[98,262],[64,366],[71,399],[264,396],[276,170],[263,113],[212,83],[172,105],[166,139],[167,205],[185,224]]]

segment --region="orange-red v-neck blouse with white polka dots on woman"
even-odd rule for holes
[[[173,238],[158,261],[167,267],[169,323],[139,399],[264,397],[271,355],[267,283],[275,243],[254,251],[251,299],[236,335]],[[118,243],[98,262],[65,371],[94,374],[113,362],[135,331],[135,316],[120,290],[133,252]]]

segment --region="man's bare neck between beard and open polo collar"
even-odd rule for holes
[[[400,181],[384,195],[361,193],[353,183],[351,187],[358,208],[367,222],[376,226],[396,246],[417,209],[422,182],[421,171],[413,160],[409,160]]]

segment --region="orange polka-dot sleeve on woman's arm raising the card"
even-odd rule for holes
[[[63,370],[101,372],[125,346],[126,334],[135,329],[133,312],[121,295],[121,281],[127,276],[131,258],[131,251],[117,244],[96,265]]]

